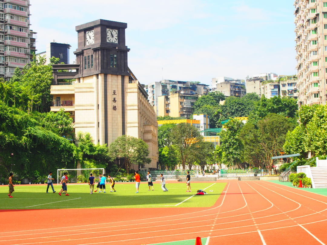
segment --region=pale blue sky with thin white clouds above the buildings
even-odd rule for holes
[[[37,53],[67,42],[76,59],[75,26],[97,19],[127,23],[128,66],[142,84],[162,79],[245,79],[295,74],[292,0],[30,0]]]

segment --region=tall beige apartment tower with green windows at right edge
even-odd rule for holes
[[[327,2],[296,0],[295,50],[298,104],[326,104]]]

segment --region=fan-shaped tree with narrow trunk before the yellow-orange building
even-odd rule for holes
[[[188,123],[177,124],[169,137],[179,153],[182,168],[185,169],[187,157],[191,153],[192,144],[203,139],[199,131]],[[192,148],[193,149],[193,148]]]

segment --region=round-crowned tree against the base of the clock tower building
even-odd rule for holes
[[[150,151],[148,145],[142,139],[132,136],[122,135],[115,139],[109,146],[109,151],[113,157],[124,157],[127,174],[132,164],[142,166],[149,164],[151,159],[147,156]]]

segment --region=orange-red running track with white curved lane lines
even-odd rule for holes
[[[209,245],[327,245],[327,196],[266,181],[229,182],[224,191],[209,208],[0,210],[0,244],[135,245],[210,237]]]

